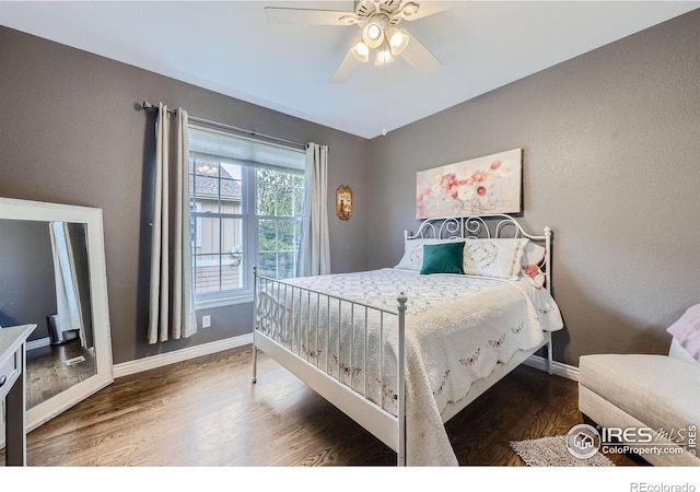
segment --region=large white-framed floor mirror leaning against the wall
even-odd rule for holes
[[[101,209],[0,198],[0,329],[28,324],[27,432],[114,382]]]

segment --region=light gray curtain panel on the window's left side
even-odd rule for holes
[[[172,154],[171,149],[174,150]],[[174,190],[172,197],[171,190]],[[171,114],[163,103],[159,104],[156,122],[152,227],[149,343],[156,343],[197,332],[189,227],[187,112],[177,109],[173,141]]]

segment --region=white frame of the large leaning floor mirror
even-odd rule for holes
[[[96,372],[26,410],[26,432],[31,432],[114,382],[102,209],[0,198],[0,219],[85,224]]]

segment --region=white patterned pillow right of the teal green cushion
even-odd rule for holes
[[[468,276],[517,279],[523,253],[529,239],[467,239],[464,244],[464,272]]]

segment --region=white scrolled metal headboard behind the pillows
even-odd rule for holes
[[[545,288],[551,293],[551,239],[552,232],[546,226],[541,235],[527,233],[517,220],[505,213],[485,215],[465,215],[450,218],[425,219],[421,222],[416,234],[404,231],[404,241],[434,237],[434,238],[518,238],[526,237],[533,243],[545,246],[545,259],[540,266],[546,274]]]

